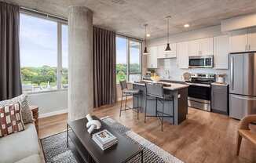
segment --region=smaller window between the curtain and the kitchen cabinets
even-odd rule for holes
[[[141,80],[141,42],[116,37],[116,82]]]

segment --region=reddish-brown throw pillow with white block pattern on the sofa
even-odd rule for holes
[[[0,107],[0,137],[23,131],[20,103]]]

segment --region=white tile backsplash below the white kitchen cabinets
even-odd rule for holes
[[[166,70],[170,72],[170,79],[174,81],[183,81],[183,74],[185,72],[189,73],[210,73],[210,74],[226,74],[225,82],[229,83],[229,70],[216,70],[214,68],[191,68],[191,69],[181,69],[177,67],[177,59],[165,59],[158,60],[158,69],[156,73],[163,78],[168,78]]]

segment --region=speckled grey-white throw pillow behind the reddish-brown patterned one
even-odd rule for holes
[[[13,103],[20,103],[21,114],[24,124],[31,123],[34,121],[32,111],[30,110],[27,101],[27,95],[22,94],[10,100],[0,101],[0,107],[5,107],[6,105],[11,105]]]

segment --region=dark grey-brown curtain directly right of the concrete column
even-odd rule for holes
[[[93,27],[94,107],[115,103],[115,32]]]

